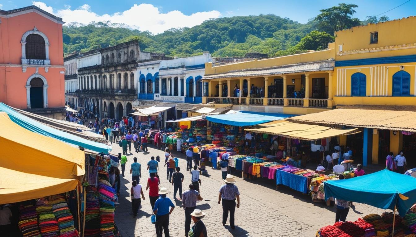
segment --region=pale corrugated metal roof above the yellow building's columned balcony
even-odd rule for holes
[[[238,70],[230,71],[228,73],[220,73],[214,75],[203,76],[203,79],[215,79],[215,78],[229,78],[229,77],[242,77],[242,76],[267,76],[276,74],[288,74],[288,73],[300,73],[308,71],[333,71],[333,60],[314,61],[300,64],[287,64],[283,66],[277,66],[272,68],[257,68],[256,70]]]

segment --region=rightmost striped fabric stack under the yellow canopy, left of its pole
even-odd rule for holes
[[[49,202],[52,204],[52,212],[58,220],[59,237],[76,237],[77,230],[74,227],[74,217],[69,211],[67,201],[64,197],[58,196]]]

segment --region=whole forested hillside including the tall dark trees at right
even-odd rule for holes
[[[213,56],[238,57],[247,53],[282,56],[322,50],[333,42],[335,31],[360,24],[389,20],[368,16],[365,21],[352,18],[357,5],[340,3],[320,10],[307,24],[276,15],[223,17],[191,28],[170,29],[161,34],[140,32],[124,25],[96,22],[87,26],[63,27],[64,54],[114,46],[137,39],[142,51],[186,57],[209,51]]]

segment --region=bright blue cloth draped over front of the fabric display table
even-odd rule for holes
[[[276,185],[283,184],[296,191],[300,191],[304,194],[308,193],[308,178],[289,173],[286,171],[276,170]]]

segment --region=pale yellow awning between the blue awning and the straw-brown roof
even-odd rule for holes
[[[308,125],[294,122],[281,122],[275,124],[273,127],[263,127],[258,129],[245,129],[246,131],[255,133],[264,133],[288,137],[292,139],[301,140],[316,140],[329,137],[336,137],[344,134],[354,134],[358,128],[354,129],[333,129],[331,127]]]

